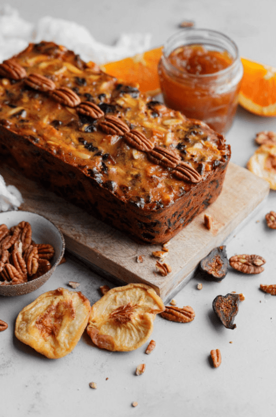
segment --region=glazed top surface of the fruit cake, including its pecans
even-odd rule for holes
[[[65,47],[30,44],[13,62],[25,74],[15,80],[2,71],[0,123],[123,201],[144,210],[171,205],[194,186],[191,181],[204,180],[230,157],[224,137],[206,124],[142,95]],[[46,87],[40,76],[49,80]]]

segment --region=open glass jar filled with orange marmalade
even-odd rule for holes
[[[227,36],[208,29],[183,29],[164,45],[158,65],[165,104],[218,133],[231,127],[243,67]]]

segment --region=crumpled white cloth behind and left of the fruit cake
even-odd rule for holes
[[[18,10],[0,6],[0,62],[25,49],[30,42],[53,41],[79,54],[84,61],[104,64],[150,49],[150,34],[121,34],[114,46],[97,42],[91,33],[75,22],[41,18],[36,24],[25,21]],[[13,185],[6,185],[0,175],[0,212],[16,210],[23,199]]]

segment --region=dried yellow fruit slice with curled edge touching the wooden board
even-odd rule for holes
[[[112,288],[92,306],[87,332],[100,348],[135,350],[149,338],[156,314],[164,310],[161,298],[146,284]]]

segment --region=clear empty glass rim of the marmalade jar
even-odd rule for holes
[[[199,44],[199,43],[203,43],[202,41],[205,41],[205,44],[211,44],[210,40],[212,41],[212,45],[215,47],[215,39],[209,39],[206,35],[211,35],[213,37],[217,37],[217,40],[220,38],[220,40],[224,41],[225,43],[228,43],[228,46],[230,46],[232,48],[232,50],[234,51],[234,54],[231,54],[232,58],[233,58],[233,62],[231,63],[231,65],[229,65],[228,67],[219,70],[215,73],[211,73],[211,74],[191,74],[191,73],[186,73],[184,70],[182,71],[180,68],[176,68],[173,64],[171,64],[170,62],[168,62],[168,60],[166,60],[166,58],[169,56],[169,54],[176,48],[179,48],[180,46],[184,46],[184,45],[192,45],[192,44]],[[201,38],[201,42],[200,41],[193,41],[192,39],[194,39],[195,37],[202,37]],[[174,40],[183,40],[183,41],[191,41],[191,42],[187,42],[184,43],[182,42],[182,44],[176,45],[173,49],[169,50],[169,53],[167,52],[167,50],[169,49],[169,46],[171,44],[172,41]],[[199,39],[199,38],[197,38]],[[228,51],[227,46],[225,45],[225,50]],[[164,43],[164,47],[163,47],[163,53],[162,53],[162,58],[164,58],[166,60],[166,65],[168,65],[171,69],[175,69],[176,71],[178,71],[180,74],[186,75],[190,78],[211,78],[214,75],[216,76],[220,76],[223,74],[228,73],[229,71],[231,71],[233,68],[235,68],[235,66],[237,65],[237,63],[240,62],[240,57],[239,57],[239,51],[238,51],[238,47],[236,45],[236,43],[229,38],[227,35],[223,34],[222,32],[219,31],[215,31],[212,29],[204,29],[204,28],[200,28],[200,29],[196,29],[196,28],[183,28],[180,31],[174,33],[173,35],[171,35],[166,42]],[[241,64],[241,63],[240,63]]]

